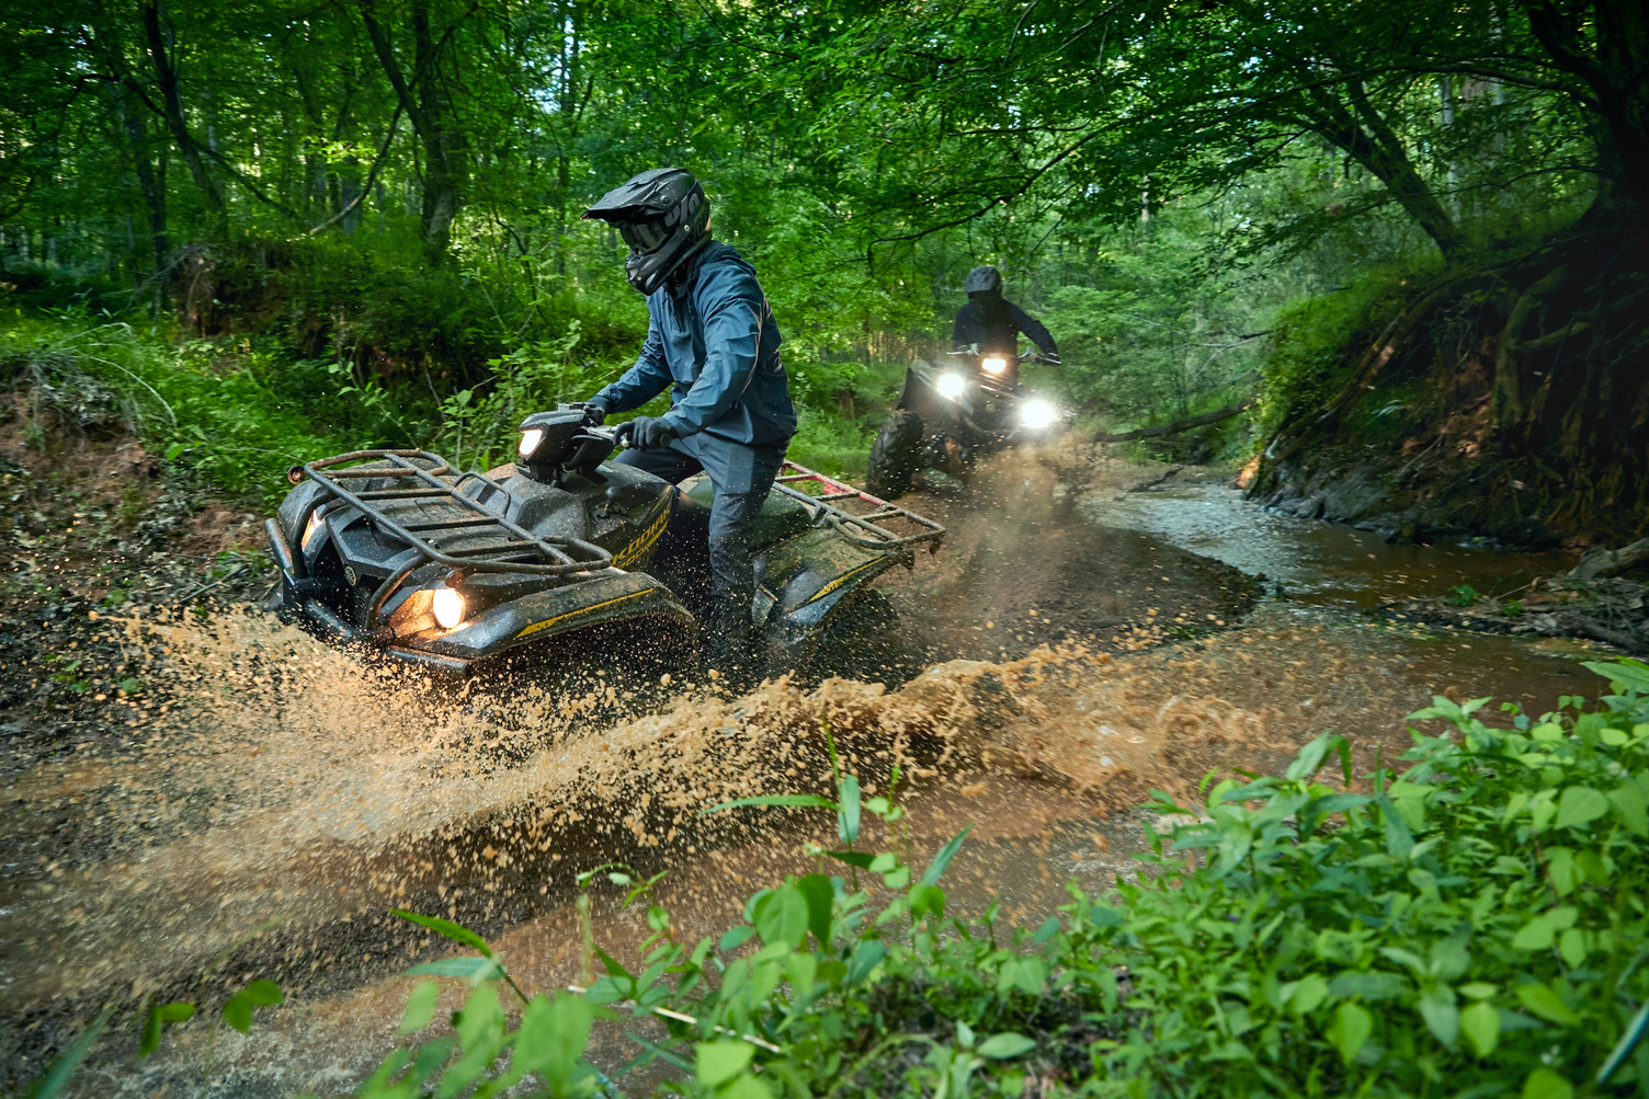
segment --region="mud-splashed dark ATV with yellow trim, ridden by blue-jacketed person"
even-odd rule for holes
[[[358,450],[292,466],[265,521],[269,608],[336,643],[467,676],[637,624],[696,652],[712,489],[607,461],[623,445],[584,405],[523,420],[519,460],[458,471],[427,450]],[[866,585],[937,522],[793,461],[754,521],[754,639],[803,666]]]

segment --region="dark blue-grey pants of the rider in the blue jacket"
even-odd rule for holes
[[[755,573],[750,565],[750,522],[762,509],[785,461],[785,445],[735,443],[699,432],[656,450],[627,450],[618,461],[678,484],[704,471],[716,488],[711,503],[711,621],[706,648],[717,656],[740,656],[750,633]]]

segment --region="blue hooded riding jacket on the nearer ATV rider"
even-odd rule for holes
[[[595,394],[597,404],[627,412],[674,386],[663,419],[679,437],[704,432],[760,447],[796,433],[778,325],[739,252],[711,241],[684,278],[648,295],[646,315],[641,354]]]

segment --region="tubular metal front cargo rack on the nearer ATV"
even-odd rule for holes
[[[353,465],[363,461],[389,465]],[[419,461],[429,465],[417,465]],[[348,479],[366,478],[404,483],[406,488],[351,491],[343,484]],[[612,554],[600,545],[580,539],[539,537],[521,527],[505,514],[513,499],[510,489],[482,473],[453,476],[453,468],[447,460],[427,450],[351,450],[346,455],[292,466],[287,470],[287,479],[294,484],[302,484],[305,479],[315,481],[335,499],[359,509],[378,531],[404,542],[427,560],[467,573],[524,572],[539,577],[562,577],[574,572],[599,572],[613,564]],[[480,481],[480,491],[475,496],[465,496],[458,489],[472,479]],[[376,503],[391,499],[439,503],[472,514],[427,522],[397,522],[384,514]],[[495,499],[505,501],[503,509],[490,506],[488,501]],[[462,531],[467,537],[493,534],[500,540],[442,549],[424,534],[445,531]],[[409,567],[399,568],[397,573],[406,575],[417,564],[420,562],[412,562]]]

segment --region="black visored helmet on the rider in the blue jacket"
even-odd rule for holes
[[[653,168],[607,191],[584,217],[610,222],[630,246],[623,274],[653,293],[711,239],[711,203],[681,168]]]

